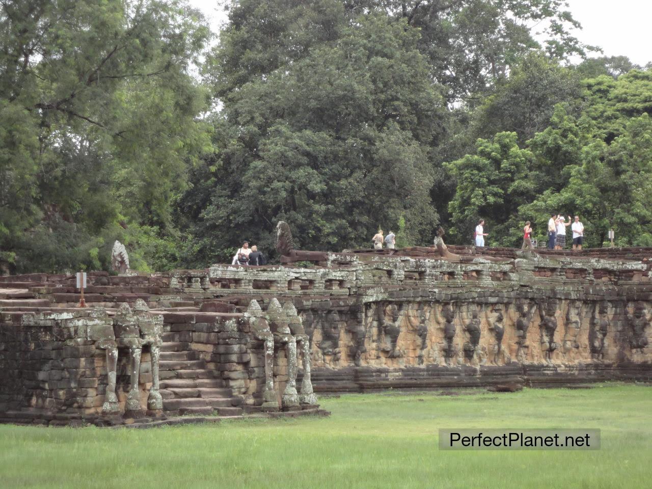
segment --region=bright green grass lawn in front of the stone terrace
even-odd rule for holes
[[[464,391],[462,391],[464,392]],[[652,388],[351,394],[328,418],[0,425],[0,487],[649,488]],[[439,451],[437,428],[600,428],[599,451]]]

